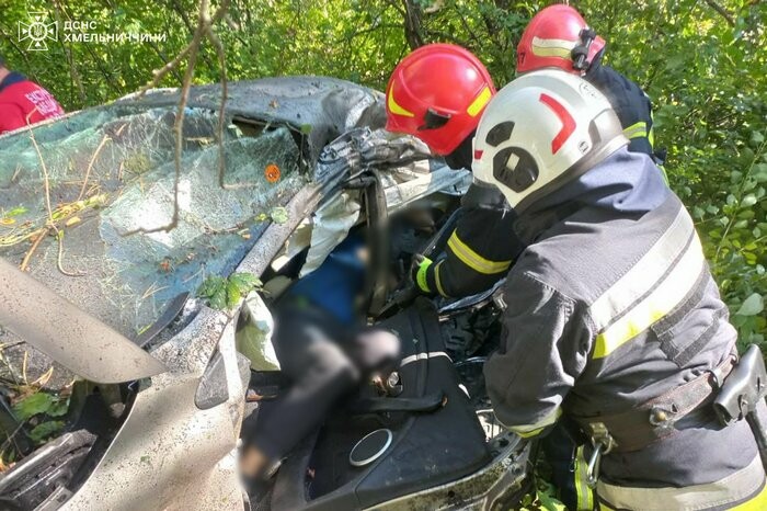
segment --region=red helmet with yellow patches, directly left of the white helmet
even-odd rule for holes
[[[386,88],[386,128],[423,140],[449,155],[471,133],[490,99],[493,80],[480,60],[460,46],[430,44],[394,68]]]

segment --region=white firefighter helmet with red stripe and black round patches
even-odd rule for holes
[[[526,73],[488,105],[474,137],[474,179],[525,209],[628,144],[609,101],[561,70]]]

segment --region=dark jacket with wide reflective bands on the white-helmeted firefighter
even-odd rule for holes
[[[501,347],[484,367],[512,431],[535,436],[562,416],[584,424],[633,411],[734,353],[692,220],[646,156],[621,148],[530,205],[516,227],[527,248],[507,276]],[[763,489],[745,421],[722,428],[700,407],[661,425],[668,434],[645,445],[618,435],[603,457],[606,509],[729,508]]]

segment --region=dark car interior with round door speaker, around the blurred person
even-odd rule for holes
[[[257,509],[368,508],[458,480],[493,457],[489,441],[499,430],[482,413],[489,401],[481,362],[497,337],[477,340],[465,334],[470,328],[461,331],[457,323],[483,321],[492,329],[497,310],[488,310],[493,306],[485,296],[458,307],[451,307],[455,300],[435,304],[419,297],[409,279],[413,254],[438,258],[444,250],[460,216],[459,201],[442,197],[436,202],[439,207],[432,207],[432,197],[387,217],[377,198],[380,183],[375,174],[369,178],[365,220],[356,230],[367,239],[370,254],[379,257],[369,258],[362,307],[370,325],[400,338],[401,362],[364,382],[270,481],[252,488],[251,500]],[[302,257],[296,256],[277,271],[272,266],[264,275],[265,286],[273,280],[295,282]],[[379,303],[377,295],[384,297]],[[440,314],[440,309],[447,311]],[[289,383],[277,375],[253,373],[254,395],[274,396],[275,384],[278,394]],[[251,415],[243,428],[253,427],[257,408],[257,404],[249,406]]]

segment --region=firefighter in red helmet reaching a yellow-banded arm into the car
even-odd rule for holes
[[[448,44],[423,46],[391,75],[387,129],[414,135],[454,169],[470,169],[471,139],[494,93],[490,73],[468,50]],[[460,297],[488,289],[523,248],[510,236],[514,215],[500,192],[471,186],[462,206],[446,257],[436,262],[421,258],[413,269],[422,293]]]

